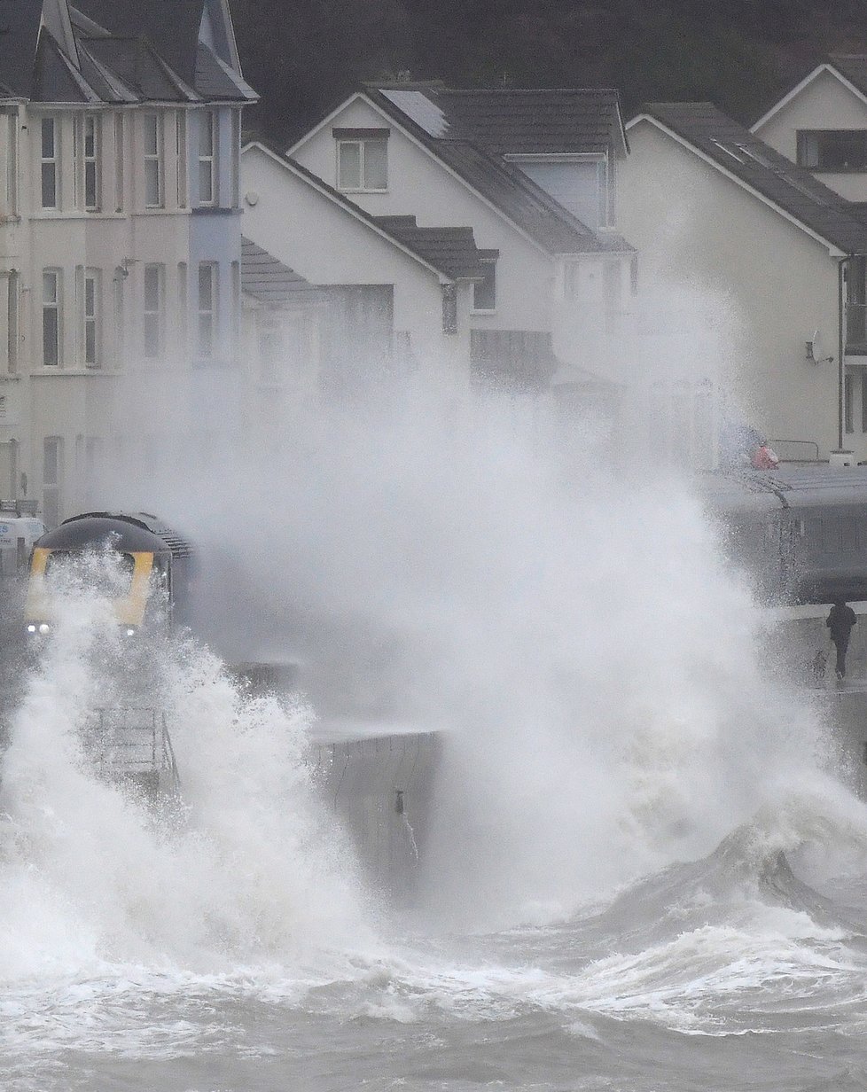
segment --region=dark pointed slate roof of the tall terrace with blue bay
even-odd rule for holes
[[[199,41],[203,3],[78,0],[69,8],[73,59],[40,27],[41,0],[14,0],[0,12],[8,21],[8,33],[0,33],[0,86],[44,103],[256,99],[240,74]]]

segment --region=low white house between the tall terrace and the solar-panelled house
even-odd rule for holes
[[[453,387],[468,387],[467,317],[483,260],[470,227],[420,227],[413,216],[375,216],[292,158],[259,141],[241,153],[245,236],[260,248],[245,262],[242,287],[258,343],[283,323],[262,311],[262,264],[271,260],[274,282],[283,280],[283,302],[304,302],[297,288],[286,295],[284,271],[316,288],[320,307],[318,361],[313,384],[342,397],[380,380],[428,371]],[[322,311],[324,307],[324,312]],[[265,323],[264,328],[262,322]],[[281,335],[282,337],[283,335]],[[283,347],[283,367],[273,349],[262,367],[273,381],[296,384],[297,354]],[[309,360],[309,357],[308,357]],[[306,366],[302,366],[306,367]],[[281,380],[282,377],[282,380]],[[309,387],[307,380],[301,385]]]

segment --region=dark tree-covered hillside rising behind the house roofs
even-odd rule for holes
[[[230,0],[248,121],[286,142],[365,80],[615,86],[753,120],[831,50],[867,51],[863,0]]]

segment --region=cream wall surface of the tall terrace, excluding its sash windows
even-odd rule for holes
[[[9,114],[0,115],[0,162],[7,166],[10,157],[15,157],[16,182],[15,207],[11,209],[4,170],[0,210],[0,399],[4,399],[0,403],[0,497],[16,494],[44,500],[45,440],[57,437],[61,451],[58,517],[63,519],[87,503],[88,473],[97,468],[99,460],[110,464],[119,446],[131,436],[165,429],[171,420],[168,412],[177,410],[179,391],[185,393],[188,408],[195,397],[189,377],[200,261],[215,262],[219,270],[221,351],[216,363],[237,359],[238,127],[233,121],[236,111],[219,108],[219,201],[213,210],[192,214],[197,109],[158,108],[163,118],[164,203],[159,209],[145,209],[142,117],[153,107],[93,109],[91,116],[97,119],[99,133],[100,201],[97,211],[85,211],[83,176],[76,180],[72,154],[73,126],[83,118],[83,108],[21,104],[14,109],[14,124]],[[46,114],[58,120],[57,210],[41,207],[40,119]],[[182,127],[180,141],[178,136],[181,116],[187,122],[186,141]],[[116,146],[118,134],[122,143]],[[144,266],[149,263],[162,265],[165,274],[163,351],[157,360],[145,358],[143,351]],[[43,361],[41,293],[47,269],[58,270],[62,284],[61,359],[59,366],[49,367]],[[86,366],[84,359],[85,270],[99,274],[95,367]],[[14,284],[17,305],[14,360],[10,359],[8,336],[10,284]],[[207,402],[201,405],[206,412]]]

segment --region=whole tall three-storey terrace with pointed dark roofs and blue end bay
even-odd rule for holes
[[[237,360],[226,0],[16,0],[0,34],[0,494],[57,523]],[[201,413],[201,411],[200,411]],[[205,426],[206,427],[206,426]]]

